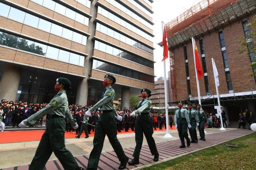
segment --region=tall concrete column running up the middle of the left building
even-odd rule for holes
[[[83,80],[78,80],[78,87],[76,91],[76,104],[80,104],[82,106],[87,105],[88,100],[88,79],[90,78],[90,72],[92,67],[92,49],[94,45],[94,31],[96,29],[96,23],[94,23],[94,20],[96,18],[97,14],[97,7],[96,7],[96,0],[91,1],[91,8],[90,8],[90,14],[92,15],[92,18],[89,20],[89,27],[88,27],[88,33],[90,33],[90,36],[87,39],[86,42],[86,53],[88,56],[84,59],[84,78]],[[103,77],[102,77],[103,79]]]

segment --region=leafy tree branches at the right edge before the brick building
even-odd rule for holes
[[[252,21],[246,25],[244,29],[245,36],[238,40],[241,44],[241,48],[238,49],[238,54],[247,52],[248,57],[250,57],[252,67],[252,76],[256,76],[256,60],[255,60],[255,51],[256,46],[254,44],[256,40],[256,16],[252,17]]]

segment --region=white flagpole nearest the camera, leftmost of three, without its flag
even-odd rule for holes
[[[164,36],[164,22],[162,21],[162,36]],[[164,51],[164,46],[163,46]],[[164,101],[165,101],[165,118],[166,118],[166,134],[164,138],[172,138],[169,133],[169,115],[168,115],[168,101],[167,101],[167,83],[166,83],[166,60],[164,60]],[[160,108],[160,106],[159,106]]]

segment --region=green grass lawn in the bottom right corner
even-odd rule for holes
[[[227,143],[238,147],[226,147]],[[220,169],[256,170],[256,133],[144,168],[144,170]]]

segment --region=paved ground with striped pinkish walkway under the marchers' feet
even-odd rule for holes
[[[218,143],[228,141],[230,139],[240,137],[252,133],[250,130],[243,129],[232,129],[227,128],[227,131],[219,131],[218,129],[206,129],[206,141],[199,141],[198,144],[192,144],[190,147],[185,149],[180,149],[180,141],[178,139],[178,133],[176,130],[171,131],[173,138],[164,139],[165,131],[154,132],[154,139],[157,143],[157,148],[160,153],[160,161],[166,161],[172,159],[176,156],[181,156],[186,153],[195,152],[206,147],[216,145]],[[199,133],[198,133],[199,134]],[[119,134],[118,139],[124,148],[126,155],[132,159],[132,152],[135,147],[134,133]],[[80,166],[86,168],[88,163],[89,153],[92,150],[92,140],[93,137],[88,139],[72,138],[66,139],[66,147],[76,156],[76,161]],[[28,164],[30,164],[36,147],[39,141],[31,142],[21,142],[21,143],[6,143],[0,144],[0,168],[7,168],[3,170],[26,170],[28,169]],[[153,162],[153,156],[150,154],[146,140],[143,142],[143,148],[141,151],[140,164],[137,166],[128,166],[127,169],[132,168],[142,168],[151,164]],[[106,137],[102,156],[100,157],[99,168],[100,170],[117,169],[118,168],[118,158],[116,154],[112,151],[112,147]],[[10,161],[11,160],[11,161]],[[53,161],[51,161],[53,160]],[[13,168],[9,168],[13,167]],[[63,169],[60,162],[57,160],[56,156],[52,154],[48,163],[46,164],[46,170],[59,170]]]

